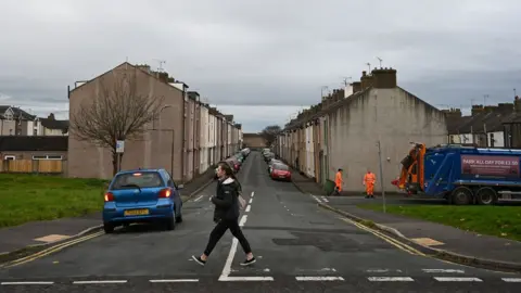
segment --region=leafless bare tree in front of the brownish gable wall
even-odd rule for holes
[[[97,97],[71,113],[71,133],[80,141],[111,149],[115,175],[120,167],[117,162],[120,164],[123,158],[116,153],[116,141],[136,140],[145,132],[147,124],[157,117],[164,97],[139,94],[132,71],[106,77],[110,80],[100,78]]]

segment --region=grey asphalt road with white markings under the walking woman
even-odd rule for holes
[[[185,204],[176,230],[132,226],[3,268],[0,292],[521,292],[521,276],[414,255],[319,208],[270,180],[258,153],[239,179],[252,267],[239,266],[244,254],[229,232],[205,267],[191,260],[213,228],[211,184]]]

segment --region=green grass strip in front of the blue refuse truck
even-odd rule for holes
[[[359,205],[382,212],[381,205]],[[386,212],[453,226],[466,231],[521,241],[521,207],[454,206],[454,205],[387,205]]]

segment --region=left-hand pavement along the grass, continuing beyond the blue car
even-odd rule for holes
[[[212,180],[213,176],[214,169],[211,168],[186,184],[181,195],[196,192]],[[82,217],[31,221],[0,229],[0,258],[2,255],[12,254],[26,247],[47,246],[80,237],[93,230],[91,228],[102,225],[101,218],[101,212],[99,212]]]

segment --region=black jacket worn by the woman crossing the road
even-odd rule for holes
[[[215,204],[214,221],[239,218],[239,192],[240,184],[232,178],[217,182],[217,194],[212,196],[212,203]]]

